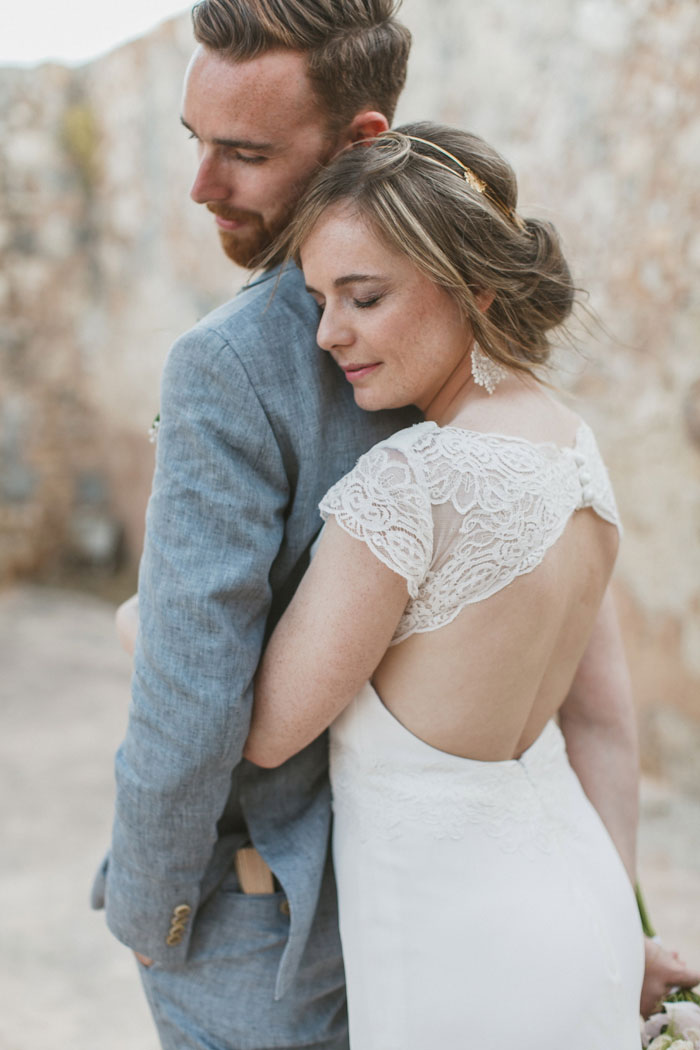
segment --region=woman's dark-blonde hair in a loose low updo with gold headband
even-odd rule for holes
[[[284,237],[288,257],[299,259],[323,212],[340,203],[455,299],[488,357],[538,378],[533,369],[546,364],[548,333],[571,313],[575,289],[554,227],[517,215],[515,175],[495,150],[428,122],[354,144],[304,194]],[[483,292],[493,294],[486,311]]]

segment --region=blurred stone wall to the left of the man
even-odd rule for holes
[[[242,280],[188,202],[191,49],[0,69],[0,582],[135,564],[168,346]]]

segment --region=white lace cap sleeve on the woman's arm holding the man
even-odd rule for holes
[[[403,576],[416,597],[432,558],[432,514],[427,486],[404,452],[376,445],[328,489],[319,508],[324,521],[335,518]]]

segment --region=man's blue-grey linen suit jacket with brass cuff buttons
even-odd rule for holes
[[[253,675],[306,567],[319,499],[417,417],[355,405],[316,344],[318,310],[301,273],[290,266],[277,276],[205,317],[166,363],[132,704],[93,906],[106,907],[125,944],[182,968],[197,907],[242,843],[242,817],[290,902],[279,998],[326,858],[326,740],[277,770],[241,759]]]

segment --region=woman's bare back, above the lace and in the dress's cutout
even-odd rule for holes
[[[522,383],[493,407],[486,403],[475,418],[472,412],[469,423],[559,448],[571,447],[580,425],[574,413]],[[385,706],[442,751],[485,761],[517,757],[566,698],[617,547],[615,525],[594,509],[576,510],[532,571],[466,605],[438,630],[387,650],[373,676]]]

